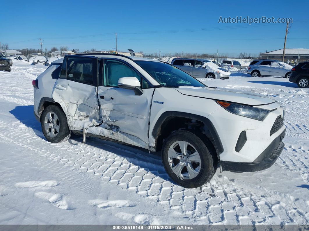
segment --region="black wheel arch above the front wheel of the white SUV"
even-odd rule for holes
[[[163,139],[171,132],[190,127],[199,132],[202,140],[211,144],[219,161],[219,155],[223,152],[223,146],[213,123],[206,117],[186,112],[166,111],[161,114],[151,132],[155,138],[155,151],[161,150]],[[167,134],[163,134],[164,131]]]

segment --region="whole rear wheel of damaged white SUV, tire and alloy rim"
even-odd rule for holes
[[[71,136],[66,115],[56,105],[50,105],[43,111],[41,126],[43,134],[49,142],[64,142]]]

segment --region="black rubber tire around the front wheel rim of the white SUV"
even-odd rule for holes
[[[196,151],[200,154],[201,165],[198,174],[193,179],[183,179],[177,176],[170,166],[168,158],[168,150],[172,144],[177,141],[186,141],[192,144]],[[190,155],[188,156],[190,157]],[[205,142],[193,131],[178,130],[170,134],[164,141],[162,147],[162,161],[167,174],[179,185],[184,188],[197,188],[208,181],[214,176],[217,170],[217,159],[214,157]],[[177,161],[175,159],[175,161]],[[174,166],[175,167],[175,166]]]

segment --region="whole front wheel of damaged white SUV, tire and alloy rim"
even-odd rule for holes
[[[217,166],[205,142],[187,130],[178,130],[166,138],[162,160],[168,175],[184,188],[197,188],[210,181]]]

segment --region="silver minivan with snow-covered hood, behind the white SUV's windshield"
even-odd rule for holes
[[[228,79],[231,74],[209,60],[177,58],[171,64],[195,78]]]

